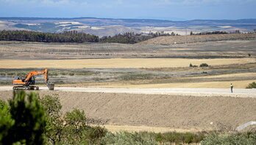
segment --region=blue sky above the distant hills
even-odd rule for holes
[[[0,0],[0,17],[256,18],[256,0]]]

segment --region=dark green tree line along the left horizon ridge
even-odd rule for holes
[[[118,42],[118,43],[136,43],[149,40],[154,37],[171,36],[174,33],[165,34],[163,31],[149,34],[135,34],[127,32],[116,34],[115,36],[99,36],[86,34],[79,31],[65,31],[63,33],[44,33],[38,31],[0,31],[0,40],[4,41],[28,41],[28,42]]]

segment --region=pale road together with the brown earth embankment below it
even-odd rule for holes
[[[256,120],[256,89],[115,89],[40,87],[40,97],[57,94],[63,113],[79,108],[91,124],[110,131],[235,131]],[[0,99],[12,97],[0,87]]]

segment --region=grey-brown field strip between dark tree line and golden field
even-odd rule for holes
[[[168,37],[161,39],[169,40]],[[255,57],[255,43],[256,40],[194,42],[171,45],[0,41],[0,59],[232,59],[249,57],[249,54]]]

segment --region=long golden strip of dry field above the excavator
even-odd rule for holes
[[[140,68],[188,67],[207,63],[211,66],[253,63],[255,59],[63,59],[0,60],[0,68]]]

